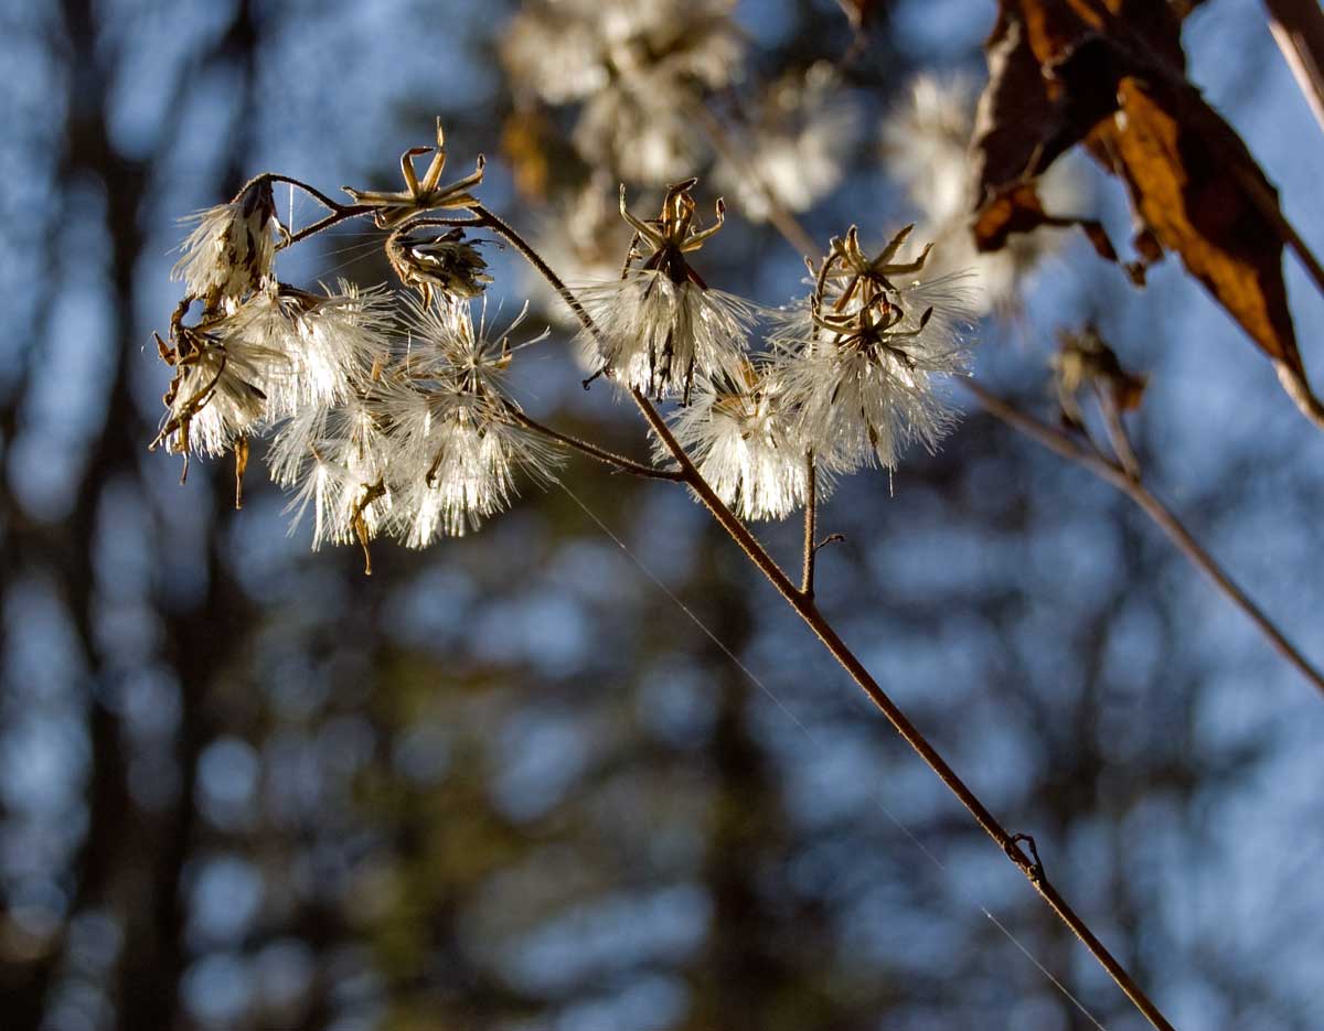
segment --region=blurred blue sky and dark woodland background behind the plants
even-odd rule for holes
[[[489,206],[568,232],[552,201],[594,169],[565,154],[572,112],[503,71],[516,8],[0,7],[0,1024],[1137,1027],[671,484],[572,461],[479,533],[380,544],[365,578],[356,549],[289,536],[260,475],[236,512],[225,463],[181,487],[147,453],[177,220],[250,175],[384,184],[440,114],[455,168],[487,154]],[[748,93],[854,46],[835,89],[857,131],[802,214],[814,238],[907,220],[888,112],[916,71],[982,81],[993,16],[878,3],[858,44],[830,0],[736,5]],[[1259,5],[1210,0],[1185,41],[1324,246],[1324,138]],[[531,148],[543,179],[516,184]],[[1124,240],[1120,188],[1079,175]],[[282,278],[385,281],[371,241],[328,234]],[[532,287],[486,253],[512,315]],[[802,274],[739,208],[702,259],[768,304]],[[1288,277],[1324,368],[1321,300]],[[642,454],[532,295],[557,328],[522,400]],[[1157,492],[1324,659],[1324,438],[1177,262],[1137,292],[1071,237],[984,322],[980,375],[1051,418],[1054,331],[1086,318],[1151,375],[1132,429]],[[937,454],[821,512],[847,537],[822,607],[1177,1026],[1320,1027],[1321,699],[1129,502],[953,396]],[[763,532],[797,561],[794,520]]]

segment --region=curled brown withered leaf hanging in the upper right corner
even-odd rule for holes
[[[1063,224],[1033,185],[1083,143],[1127,184],[1140,222],[1131,278],[1143,283],[1162,247],[1177,251],[1256,345],[1303,373],[1278,195],[1186,81],[1182,13],[1153,0],[1002,0],[976,124],[976,241],[997,250],[1012,233]],[[1116,258],[1098,222],[1079,224]]]

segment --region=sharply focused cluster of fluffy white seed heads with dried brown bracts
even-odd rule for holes
[[[420,177],[413,163],[426,154]],[[511,504],[520,474],[552,480],[567,446],[647,471],[523,412],[510,368],[548,334],[520,332],[527,304],[499,331],[489,320],[493,277],[475,229],[528,254],[567,299],[593,365],[585,386],[602,377],[662,404],[671,434],[659,434],[743,519],[785,517],[810,484],[821,498],[842,474],[892,467],[906,445],[933,447],[951,424],[937,382],[968,359],[961,283],[925,281],[927,249],[900,257],[908,229],[869,257],[851,228],[809,295],[769,311],[711,289],[691,263],[723,228],[722,200],[704,226],[688,179],[643,220],[621,187],[633,232],[624,271],[569,290],[481,206],[481,160],[442,185],[440,124],[436,146],[405,151],[400,165],[404,191],[347,188],[352,205],[303,187],[331,213],[299,234],[271,199],[274,179],[302,187],[285,177],[260,176],[195,216],[175,267],[185,296],[158,336],[173,379],[156,443],[183,454],[185,472],[189,454],[233,451],[238,482],[250,439],[270,437],[271,479],[290,494],[294,525],[311,524],[314,548],[359,543],[367,556],[381,535],[410,548],[463,535]],[[466,213],[436,214],[454,208]],[[286,246],[361,216],[383,230],[400,292],[278,278]],[[692,471],[666,471],[677,454],[661,439],[654,462],[695,486]]]

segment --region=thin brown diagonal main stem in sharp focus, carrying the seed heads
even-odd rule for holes
[[[530,261],[543,278],[547,279],[548,285],[551,285],[552,289],[556,290],[561,298],[564,298],[565,303],[576,314],[585,330],[593,335],[600,334],[597,326],[593,323],[593,319],[584,310],[583,304],[579,303],[577,298],[575,298],[565,283],[561,282],[560,277],[552,271],[552,269],[514,229],[481,205],[474,205],[470,210],[478,216],[479,221],[486,222],[494,230],[500,233],[500,236],[503,236]],[[978,797],[960,777],[956,776],[956,772],[948,765],[947,760],[939,754],[939,752],[928,742],[928,739],[920,733],[920,731],[910,721],[896,703],[892,701],[882,687],[878,686],[878,682],[869,674],[869,670],[865,668],[863,663],[846,646],[841,637],[838,637],[831,623],[829,623],[824,614],[818,611],[812,590],[809,589],[810,585],[806,584],[805,586],[798,588],[790,581],[786,573],[782,572],[781,566],[777,565],[773,557],[759,543],[757,537],[749,532],[749,528],[736,517],[736,515],[716,495],[708,482],[700,475],[685,449],[671,434],[671,430],[666,425],[661,413],[653,406],[647,397],[638,390],[632,390],[630,394],[634,398],[634,404],[638,406],[639,413],[649,424],[649,427],[654,434],[657,434],[658,439],[675,459],[675,463],[679,467],[678,479],[694,491],[714,520],[716,520],[722,529],[724,529],[726,533],[745,553],[759,572],[767,577],[773,588],[777,589],[777,593],[785,598],[786,604],[796,611],[796,614],[804,619],[810,630],[813,630],[814,635],[820,639],[820,642],[822,642],[828,652],[869,696],[869,699],[883,713],[902,739],[919,754],[924,764],[937,776],[948,790],[951,790],[952,794],[960,799],[961,805],[965,806],[985,834],[988,834],[997,843],[998,848],[1006,855],[1006,858],[1010,859],[1012,863],[1014,863],[1026,876],[1058,919],[1061,919],[1062,922],[1066,924],[1082,941],[1082,944],[1090,950],[1091,956],[1095,957],[1095,960],[1100,964],[1100,966],[1103,966],[1104,970],[1107,970],[1108,975],[1116,982],[1123,993],[1125,993],[1127,998],[1129,998],[1136,1009],[1144,1014],[1145,1019],[1148,1019],[1156,1028],[1160,1028],[1160,1031],[1172,1031],[1172,1024],[1166,1020],[1162,1012],[1160,1012],[1158,1007],[1151,1002],[1148,995],[1145,995],[1140,986],[1136,985],[1121,964],[1117,962],[1112,953],[1108,952],[1103,942],[1095,937],[1094,932],[1090,930],[1086,922],[1058,893],[1057,888],[1053,887],[1043,872],[1042,864],[1037,860],[1031,860],[1030,856],[1026,855],[1025,850],[1019,844],[1019,842],[1025,839],[1023,835],[1013,835],[1001,823],[998,823],[997,818],[993,817]],[[814,545],[814,541],[812,540],[812,527],[808,529],[808,535],[806,543],[812,553]]]

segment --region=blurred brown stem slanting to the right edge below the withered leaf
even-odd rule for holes
[[[1190,535],[1190,531],[1186,529],[1182,521],[1145,487],[1140,480],[1139,472],[1128,472],[1117,462],[1110,461],[1103,454],[1084,447],[1066,433],[1025,414],[1014,405],[981,386],[976,380],[965,380],[965,385],[990,416],[1049,450],[1057,451],[1067,461],[1083,466],[1099,479],[1131,498],[1168,535],[1192,565],[1214,581],[1214,585],[1227,596],[1233,605],[1250,617],[1250,621],[1255,623],[1270,645],[1274,646],[1274,650],[1287,659],[1320,692],[1324,692],[1324,674],[1312,666],[1296,646],[1287,639],[1283,631],[1278,629],[1274,621],[1250,600],[1245,590],[1237,586],[1223,568],[1214,561],[1213,556]],[[1127,446],[1127,451],[1129,453],[1129,445]]]

